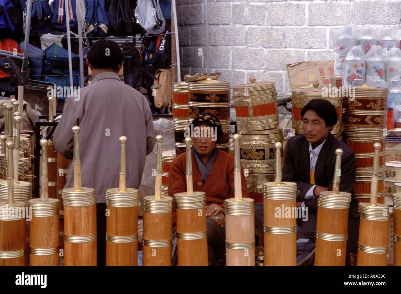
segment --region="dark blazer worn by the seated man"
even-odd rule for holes
[[[348,145],[337,140],[331,133],[329,133],[326,142],[324,142],[316,161],[315,184],[328,187],[328,190],[332,191],[336,163],[335,151],[338,148],[343,151],[341,157],[340,191],[352,194],[350,212],[353,216],[357,217],[359,216],[358,201],[354,196],[355,153],[352,152]],[[297,201],[305,201],[305,206],[309,207],[309,211],[316,213],[318,209],[317,198],[304,199],[306,192],[313,186],[310,184],[309,142],[306,140],[305,135],[299,135],[290,140],[284,158],[284,167],[282,170],[283,181],[295,182],[297,184]]]

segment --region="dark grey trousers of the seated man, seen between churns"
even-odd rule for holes
[[[297,218],[297,239],[312,239],[316,233],[317,214],[308,212],[308,221]],[[335,225],[334,223],[332,225]],[[255,204],[255,227],[263,234],[263,202]],[[359,235],[359,217],[348,212],[347,253],[356,250]]]

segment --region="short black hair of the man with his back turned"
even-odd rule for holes
[[[106,39],[93,43],[87,55],[87,59],[93,68],[112,69],[114,71],[118,71],[118,66],[124,61],[124,58],[124,53],[118,44]]]

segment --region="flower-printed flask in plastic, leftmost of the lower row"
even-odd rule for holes
[[[365,81],[365,53],[362,45],[352,47],[344,60],[342,68],[342,86],[354,86],[355,79]]]

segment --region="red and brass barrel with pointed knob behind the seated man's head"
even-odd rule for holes
[[[295,130],[295,135],[304,134],[304,130],[302,129],[302,108],[312,99],[320,98],[328,100],[334,105],[338,115],[337,123],[334,125],[331,133],[341,141],[341,94],[338,92],[328,93],[328,90],[318,87],[319,83],[315,80],[313,87],[306,86],[305,88],[292,89],[292,128]]]

